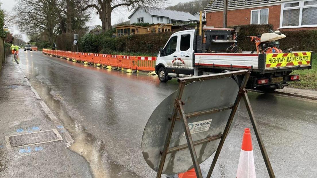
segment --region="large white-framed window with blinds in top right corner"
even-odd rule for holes
[[[287,2],[281,8],[281,28],[316,27],[317,0]]]

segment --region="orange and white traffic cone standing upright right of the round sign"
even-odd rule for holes
[[[236,178],[256,178],[256,168],[254,166],[251,133],[249,128],[244,129]]]

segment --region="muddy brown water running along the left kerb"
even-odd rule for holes
[[[75,142],[68,148],[86,159],[94,177],[139,177],[135,173],[126,170],[122,165],[111,163],[107,158],[107,151],[103,143],[87,133],[80,124],[77,124],[62,109],[63,105],[50,94],[50,88],[46,84],[37,80],[30,82],[57,118],[61,120],[64,128],[74,138]]]

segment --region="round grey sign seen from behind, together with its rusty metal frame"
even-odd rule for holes
[[[243,75],[240,85],[233,79],[238,75]],[[248,70],[241,70],[178,79],[178,91],[153,111],[143,132],[142,153],[148,165],[157,171],[157,178],[162,173],[178,174],[191,168],[202,178],[199,164],[216,152],[209,178],[234,125],[241,98],[269,176],[275,177],[245,89],[249,75]]]

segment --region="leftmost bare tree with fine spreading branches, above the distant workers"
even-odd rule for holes
[[[51,0],[19,0],[14,8],[19,29],[27,34],[45,32],[50,43],[54,42],[57,18]]]

